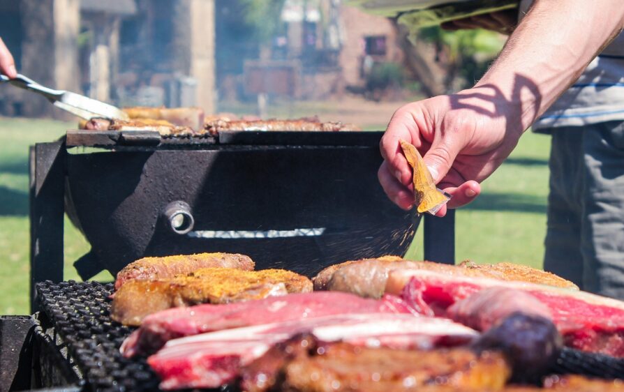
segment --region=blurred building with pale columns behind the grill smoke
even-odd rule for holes
[[[0,37],[24,75],[121,106],[422,98],[474,82],[491,56],[470,43],[502,43],[407,36],[341,0],[0,0]],[[60,115],[26,94],[0,88],[0,115]]]

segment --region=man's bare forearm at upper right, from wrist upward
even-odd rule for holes
[[[506,100],[526,130],[623,26],[621,0],[536,0],[475,87]]]

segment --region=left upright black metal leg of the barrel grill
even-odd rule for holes
[[[66,149],[64,142],[30,149],[30,299],[35,312],[37,282],[63,280]]]

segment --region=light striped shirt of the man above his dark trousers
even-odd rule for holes
[[[520,15],[532,2],[521,2]],[[537,119],[533,129],[617,120],[624,120],[624,33],[589,64],[579,80]]]

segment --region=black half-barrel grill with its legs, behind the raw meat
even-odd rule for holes
[[[381,135],[68,131],[37,144],[32,285],[63,280],[65,212],[91,244],[75,262],[84,280],[192,252],[244,253],[258,269],[308,276],[347,259],[404,255],[420,219],[379,186]],[[426,224],[426,257],[454,262],[453,218],[438,221]]]

